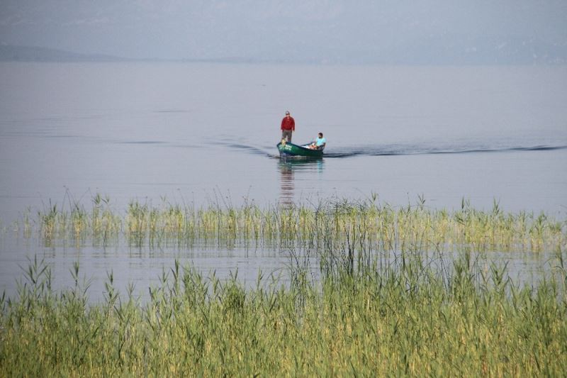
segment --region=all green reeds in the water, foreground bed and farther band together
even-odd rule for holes
[[[23,235],[133,247],[196,241],[288,251],[285,279],[246,286],[172,261],[142,301],[89,282],[55,291],[30,262],[0,300],[0,376],[561,375],[567,371],[567,223],[545,214],[393,208],[375,199],[196,209],[133,201],[124,213],[46,206]],[[477,252],[552,252],[540,279],[513,282]],[[311,260],[310,260],[311,259]],[[313,264],[317,268],[313,272]]]

